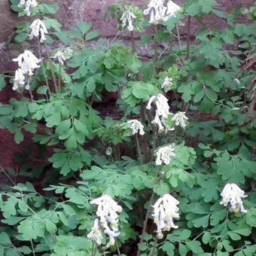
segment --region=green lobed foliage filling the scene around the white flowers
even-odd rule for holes
[[[26,15],[19,1],[10,2],[19,17]],[[35,55],[41,67],[30,78],[30,89],[20,88],[20,97],[0,105],[0,127],[13,133],[17,144],[30,133],[48,157],[36,175],[35,169],[17,175],[0,165],[13,183],[0,193],[0,255],[255,255],[256,100],[251,66],[256,29],[239,23],[240,17],[255,20],[255,8],[227,14],[215,0],[187,1],[139,41],[151,49],[149,59],[141,56],[134,37],[150,26],[138,7],[114,5],[108,10],[119,24],[123,13],[135,15],[134,31],[118,27],[130,36],[132,47],[115,43],[115,38],[96,43],[99,32],[90,23],[63,31],[53,19],[57,11],[49,4],[31,10],[49,31],[45,43],[60,47],[53,53],[72,49],[72,54],[58,62],[48,52],[51,48],[38,42]],[[205,20],[212,16],[225,20],[227,29],[209,29]],[[202,29],[193,42],[192,36],[181,41],[178,29],[186,23],[189,34],[190,20]],[[17,27],[14,43],[28,44],[29,25]],[[14,83],[9,78],[0,75],[0,90]],[[170,90],[163,90],[165,82]],[[107,105],[109,93],[117,95],[112,117],[99,108]],[[173,112],[186,111],[187,127],[167,117],[161,121],[169,129],[159,133],[156,121],[152,123],[154,110],[146,108],[158,93],[169,99]],[[141,120],[144,136],[133,134],[127,122],[131,119]],[[172,145],[175,157],[157,166],[163,145]],[[53,175],[50,184],[45,175]],[[17,182],[24,179],[24,184]],[[248,195],[244,215],[220,204],[227,183]],[[96,217],[90,201],[102,194],[123,208],[120,236],[111,248],[105,248],[105,239],[97,246],[87,238]],[[157,239],[151,205],[164,194],[180,202],[180,219],[178,229]]]

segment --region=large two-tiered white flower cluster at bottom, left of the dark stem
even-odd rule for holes
[[[96,215],[99,220],[96,219],[93,224],[93,229],[87,235],[88,239],[96,242],[98,245],[102,244],[102,233],[105,233],[109,237],[109,242],[106,248],[114,245],[115,238],[120,235],[118,230],[118,217],[117,212],[122,212],[122,207],[112,200],[108,195],[92,200],[90,204],[98,206]]]

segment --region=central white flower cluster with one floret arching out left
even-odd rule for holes
[[[163,124],[164,120],[168,117],[169,113],[169,105],[168,105],[168,99],[166,99],[163,94],[159,93],[157,96],[151,96],[151,98],[148,101],[148,105],[146,106],[147,109],[152,108],[152,103],[156,105],[156,115],[154,117],[154,120],[152,123],[155,123],[159,126],[159,133],[163,132]]]

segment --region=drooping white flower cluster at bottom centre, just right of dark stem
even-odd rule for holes
[[[165,194],[154,204],[152,217],[157,225],[157,237],[163,239],[163,231],[169,231],[171,228],[178,228],[173,223],[173,219],[178,219],[178,200],[175,200],[170,194]]]

